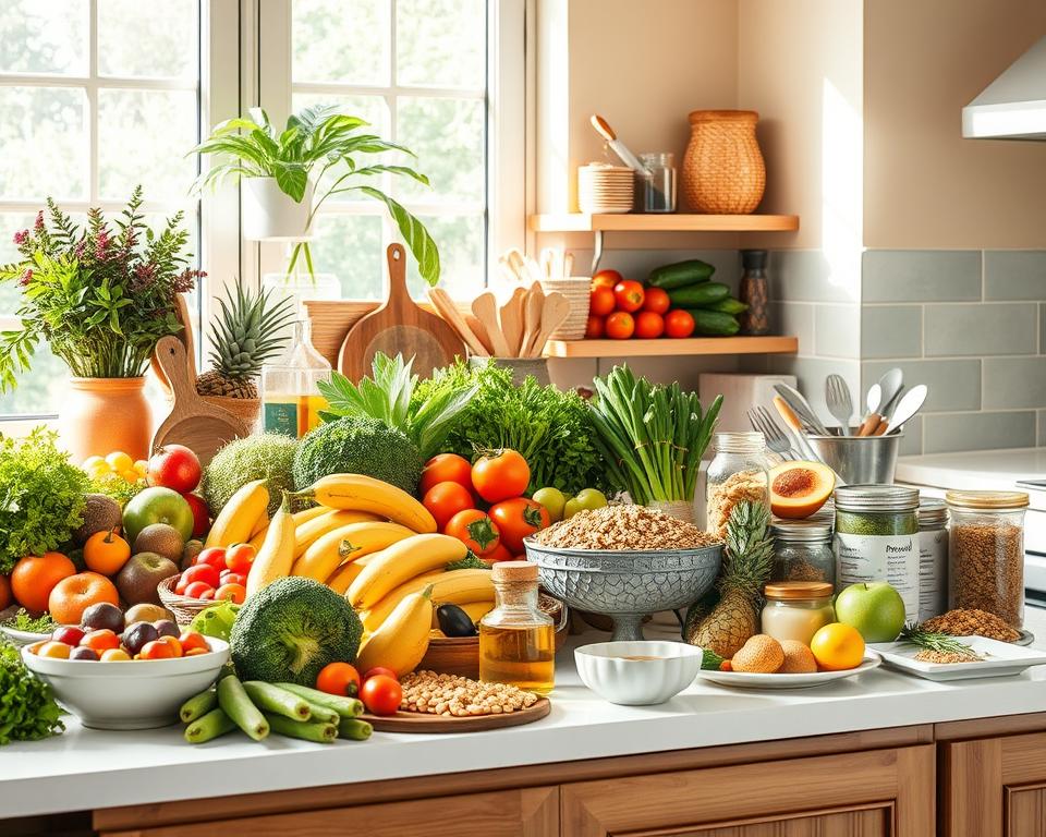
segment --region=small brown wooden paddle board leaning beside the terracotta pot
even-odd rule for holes
[[[177,337],[165,337],[156,344],[156,361],[174,393],[174,407],[153,436],[153,449],[178,442],[191,448],[206,465],[226,442],[250,435],[250,429],[228,410],[209,404],[196,395],[195,378],[190,378],[185,345]]]

